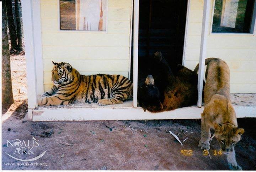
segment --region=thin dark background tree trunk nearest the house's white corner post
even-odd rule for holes
[[[17,25],[17,39],[18,39],[18,51],[22,51],[22,30],[21,30],[21,16],[20,16],[20,7],[19,0],[15,0],[15,16],[16,16],[16,25]]]

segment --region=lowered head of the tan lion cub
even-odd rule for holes
[[[234,127],[232,124],[215,124],[215,137],[220,143],[225,154],[233,152],[236,143],[244,133],[243,128]]]

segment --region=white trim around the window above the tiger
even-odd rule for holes
[[[79,32],[79,33],[97,33],[106,34],[108,33],[108,0],[106,0],[106,30],[105,31],[90,31],[90,30],[62,30],[60,29],[60,0],[57,0],[58,5],[58,31],[60,32]]]

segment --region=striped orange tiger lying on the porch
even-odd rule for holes
[[[38,99],[39,106],[73,103],[122,104],[133,96],[133,83],[122,75],[81,75],[69,63],[54,64],[53,87]]]

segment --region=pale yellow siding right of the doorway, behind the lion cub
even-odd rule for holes
[[[256,36],[252,34],[210,34],[213,0],[210,8],[207,58],[218,57],[230,68],[231,93],[256,93]],[[203,0],[191,0],[184,64],[194,69],[199,62]]]

